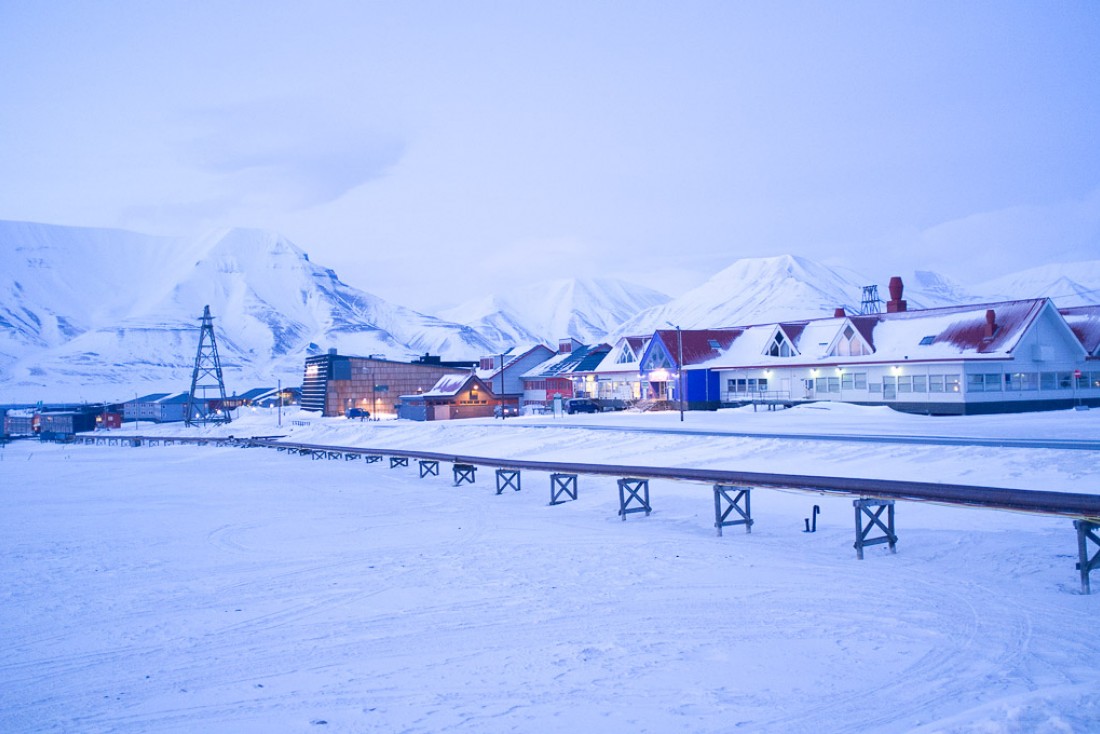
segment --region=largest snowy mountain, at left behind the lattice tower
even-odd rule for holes
[[[121,397],[186,390],[206,305],[242,390],[296,384],[305,357],[328,348],[392,359],[496,349],[469,327],[344,284],[273,232],[180,239],[0,222],[0,258],[4,402],[45,386],[54,399],[109,397],[101,386]]]

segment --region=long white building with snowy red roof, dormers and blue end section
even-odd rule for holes
[[[901,294],[897,278],[884,314],[717,330],[730,339],[712,353],[689,349],[682,332],[689,407],[711,405],[715,387],[723,406],[837,401],[964,415],[1100,405],[1100,306],[1059,311],[1035,298],[910,311]],[[674,338],[654,333],[644,370],[678,366]]]

